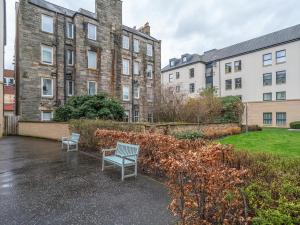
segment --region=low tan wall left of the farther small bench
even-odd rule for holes
[[[18,126],[20,136],[61,140],[70,135],[68,123],[20,121]]]

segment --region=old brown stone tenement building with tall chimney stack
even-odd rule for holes
[[[161,85],[161,42],[150,26],[122,25],[120,0],[96,0],[95,13],[44,0],[17,6],[17,114],[48,121],[74,95],[107,93],[128,121],[153,121]]]

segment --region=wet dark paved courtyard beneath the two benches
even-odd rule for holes
[[[173,224],[168,193],[147,177],[120,180],[99,160],[66,153],[58,142],[0,140],[0,221],[3,224]]]

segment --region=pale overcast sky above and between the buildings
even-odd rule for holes
[[[95,0],[48,0],[66,8],[95,10]],[[16,0],[7,2],[6,68],[13,68]],[[169,58],[223,48],[300,23],[299,0],[123,0],[123,24],[149,21]]]

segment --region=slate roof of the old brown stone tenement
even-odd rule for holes
[[[64,8],[64,7],[61,7],[61,6],[58,6],[58,5],[55,5],[53,3],[50,3],[50,2],[47,2],[45,0],[29,0],[29,2],[31,4],[34,4],[36,6],[39,6],[41,8],[44,8],[46,10],[50,10],[50,11],[53,11],[53,12],[56,12],[56,13],[59,13],[59,14],[63,14],[63,15],[67,15],[69,17],[74,17],[76,14],[81,14],[81,15],[84,15],[84,16],[87,16],[87,17],[90,17],[92,19],[97,19],[97,16],[95,13],[93,12],[90,12],[88,10],[85,10],[85,9],[79,9],[79,11],[73,11],[73,10],[70,10],[70,9],[67,9],[67,8]],[[149,39],[149,40],[152,40],[152,41],[158,41],[157,39],[147,35],[147,34],[144,34],[136,29],[133,29],[133,28],[130,28],[130,27],[127,27],[125,25],[123,25],[123,30],[126,30],[130,33],[134,33],[138,36],[141,36],[143,38],[146,38],[146,39]]]

